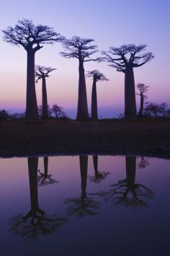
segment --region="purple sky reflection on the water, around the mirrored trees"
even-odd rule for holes
[[[38,187],[39,206],[48,214],[66,214],[66,198],[79,198],[81,177],[79,156],[53,156],[48,159],[48,172],[55,185]],[[97,216],[76,219],[69,217],[67,224],[54,234],[36,242],[22,242],[9,229],[9,220],[18,213],[30,210],[30,187],[27,158],[0,159],[0,241],[1,255],[161,255],[169,252],[169,160],[148,159],[150,165],[137,168],[135,182],[149,187],[155,193],[147,208],[125,208],[103,202]],[[38,169],[43,172],[43,158]],[[87,182],[86,192],[109,190],[109,185],[125,179],[125,156],[99,156],[99,171],[110,172],[99,184]],[[92,156],[89,156],[88,175],[94,175]],[[88,195],[91,197],[92,195]],[[94,197],[94,199],[97,199]],[[123,244],[123,247],[122,247]],[[101,246],[102,245],[102,246]],[[112,252],[112,253],[111,253]],[[117,252],[117,253],[116,253]],[[159,253],[160,252],[160,253]],[[169,254],[164,254],[169,255]]]

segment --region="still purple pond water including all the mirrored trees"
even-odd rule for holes
[[[169,167],[140,156],[0,159],[0,255],[170,255]]]

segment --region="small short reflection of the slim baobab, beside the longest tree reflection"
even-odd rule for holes
[[[37,182],[40,186],[58,183],[57,180],[51,177],[52,175],[48,174],[48,156],[44,157],[44,173],[40,172],[40,170],[38,172]]]

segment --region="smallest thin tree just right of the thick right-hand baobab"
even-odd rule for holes
[[[148,92],[148,85],[145,84],[137,84],[137,95],[140,96],[140,110],[138,112],[138,116],[142,116],[143,115],[143,105],[146,103],[145,100],[148,98],[148,96],[146,95],[146,92]]]

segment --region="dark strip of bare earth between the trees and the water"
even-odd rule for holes
[[[169,120],[2,123],[0,156],[135,154],[170,158]]]

